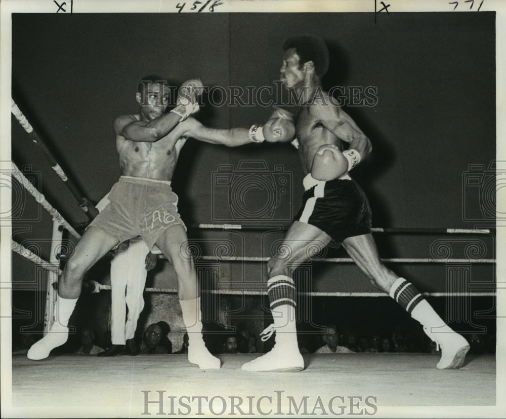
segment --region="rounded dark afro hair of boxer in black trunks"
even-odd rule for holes
[[[299,55],[300,64],[313,61],[316,75],[321,78],[328,70],[329,55],[325,42],[316,35],[294,35],[283,44],[283,51],[294,48]]]

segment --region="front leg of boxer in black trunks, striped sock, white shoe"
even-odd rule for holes
[[[319,228],[295,221],[286,233],[276,254],[269,259],[267,294],[274,324],[267,330],[276,332],[276,344],[267,354],[242,366],[246,371],[300,371],[304,359],[299,352],[296,329],[296,288],[292,272],[330,242]]]

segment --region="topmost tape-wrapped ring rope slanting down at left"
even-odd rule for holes
[[[98,214],[97,209],[95,206],[85,197],[82,197],[77,192],[77,187],[74,185],[74,183],[67,177],[67,175],[63,172],[63,169],[60,167],[60,165],[56,162],[54,157],[51,155],[48,147],[46,144],[44,144],[43,141],[40,140],[40,137],[37,135],[37,133],[33,130],[33,127],[28,122],[26,117],[23,115],[21,110],[19,109],[18,105],[16,105],[16,102],[14,102],[14,99],[11,98],[11,112],[18,120],[19,124],[24,128],[24,130],[28,133],[30,136],[32,142],[39,147],[39,149],[42,151],[42,154],[46,159],[48,160],[49,164],[51,165],[52,169],[58,174],[61,180],[63,180],[64,184],[67,186],[71,194],[74,196],[74,198],[77,201],[77,204],[81,209],[85,212],[85,214],[88,216],[88,218],[93,220]]]

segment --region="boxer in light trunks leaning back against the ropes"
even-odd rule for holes
[[[217,138],[204,135],[206,128],[189,118],[198,110],[201,87],[199,80],[186,82],[180,88],[178,105],[165,113],[170,93],[168,83],[158,75],[149,75],[138,85],[139,113],[114,120],[121,177],[109,194],[109,205],[90,224],[68,260],[59,282],[55,323],[30,348],[28,358],[44,359],[65,343],[68,320],[80,295],[83,275],[118,243],[141,236],[150,250],[156,245],[173,263],[189,336],[188,360],[200,368],[220,368],[220,360],[207,351],[202,339],[195,266],[181,251],[187,242],[186,228],[170,183],[181,142],[188,136],[227,146],[249,143],[252,138],[236,137],[234,130],[216,130]],[[276,140],[276,119],[266,125],[273,127],[270,137]]]

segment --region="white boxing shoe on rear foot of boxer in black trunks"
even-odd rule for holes
[[[424,331],[441,347],[441,359],[436,365],[437,369],[458,369],[463,365],[469,351],[469,342],[465,338],[448,326],[438,332],[424,327]]]

